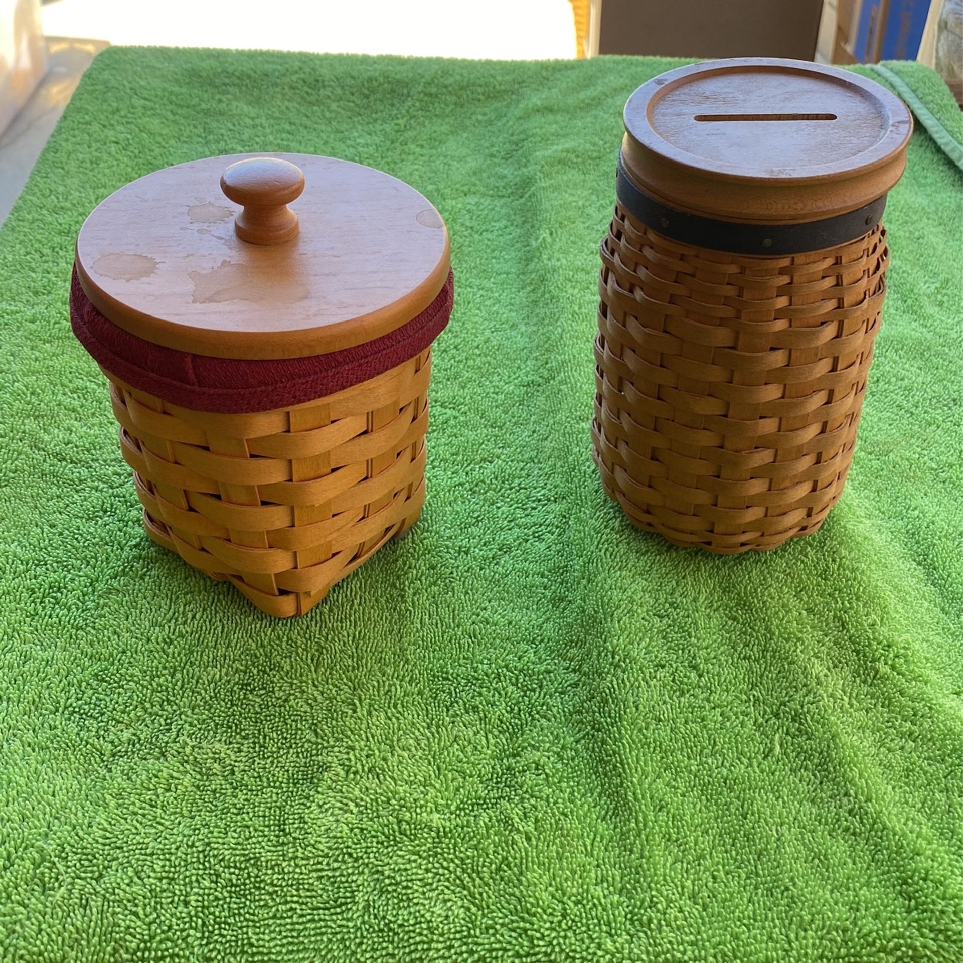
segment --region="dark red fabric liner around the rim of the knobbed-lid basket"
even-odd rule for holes
[[[388,334],[343,351],[244,361],[175,351],[125,331],[91,304],[74,271],[70,324],[94,360],[135,388],[195,411],[240,414],[311,402],[403,364],[448,324],[455,275],[421,314]]]

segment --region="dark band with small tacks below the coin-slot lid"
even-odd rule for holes
[[[673,241],[733,254],[801,254],[837,247],[871,231],[883,216],[886,195],[835,218],[801,224],[744,224],[716,221],[668,207],[638,188],[618,158],[615,195],[637,220]]]

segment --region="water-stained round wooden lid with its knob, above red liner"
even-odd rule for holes
[[[379,170],[236,154],[120,188],[84,222],[76,266],[94,306],[148,341],[290,358],[410,321],[448,278],[449,241],[429,201]]]

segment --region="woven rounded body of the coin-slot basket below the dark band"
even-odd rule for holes
[[[602,243],[593,455],[630,521],[737,554],[839,499],[888,261],[877,224],[780,257],[671,241],[616,205]]]

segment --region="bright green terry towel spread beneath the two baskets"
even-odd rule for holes
[[[963,959],[963,178],[919,130],[820,533],[673,548],[588,429],[621,108],[678,63],[97,58],[0,233],[0,959]],[[67,324],[100,199],[246,150],[453,238],[425,513],[289,621],[143,534]]]

